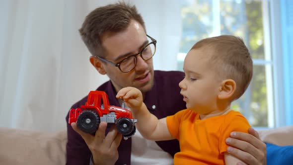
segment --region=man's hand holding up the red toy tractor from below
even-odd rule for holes
[[[71,124],[85,141],[93,156],[94,165],[114,165],[118,160],[118,146],[120,145],[122,135],[112,125],[109,133],[105,137],[107,123],[101,122],[95,136],[82,132],[76,125]]]

